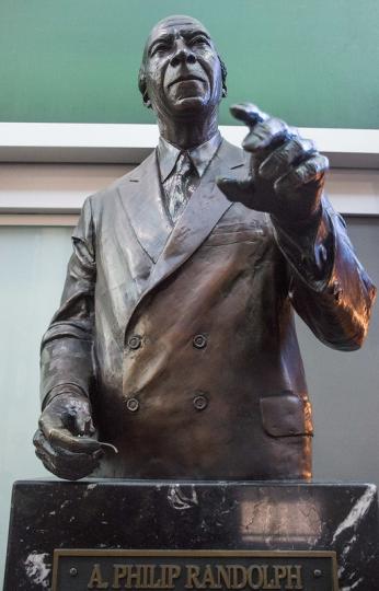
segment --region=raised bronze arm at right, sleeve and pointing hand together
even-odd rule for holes
[[[231,112],[249,126],[242,146],[250,167],[245,178],[218,178],[219,188],[231,201],[269,215],[289,270],[289,297],[314,334],[331,347],[357,349],[376,289],[324,196],[328,159],[255,105],[242,103]]]

